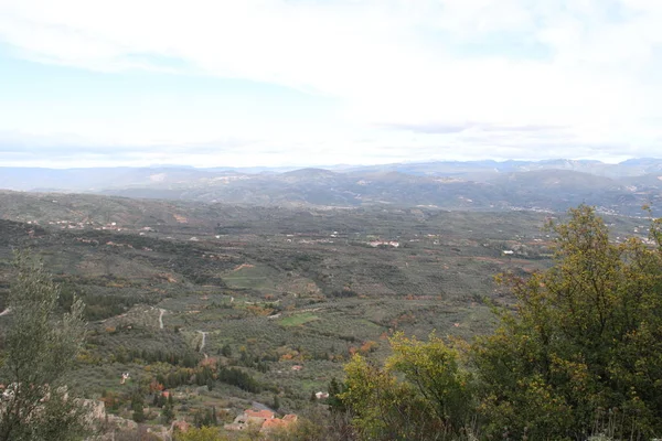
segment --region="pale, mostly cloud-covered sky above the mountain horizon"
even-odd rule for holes
[[[662,157],[660,0],[0,0],[0,165]]]

